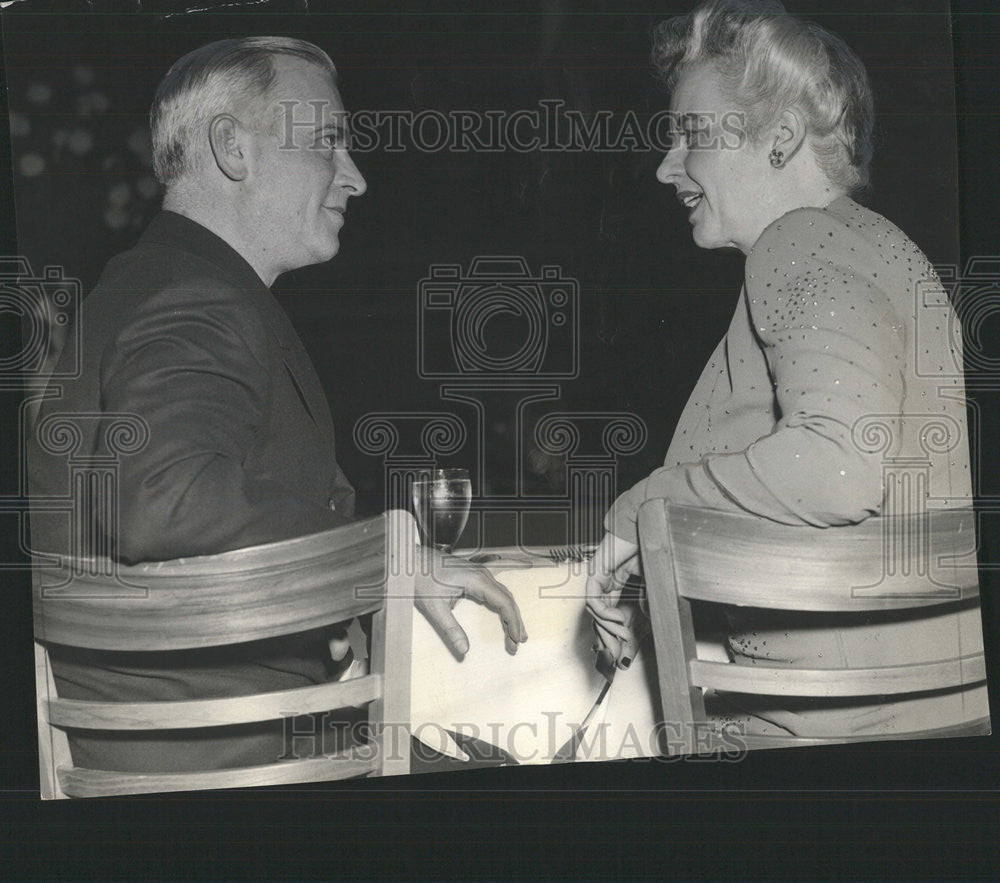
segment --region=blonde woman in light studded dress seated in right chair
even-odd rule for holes
[[[951,308],[943,293],[927,296],[937,279],[920,249],[852,199],[872,154],[872,91],[861,61],[780,3],[736,0],[663,22],[653,60],[676,125],[657,178],[676,189],[695,243],[739,249],[746,270],[732,323],[664,466],[605,520],[588,607],[621,667],[635,652],[636,630],[617,606],[618,589],[640,568],[636,513],[647,499],[835,530],[890,514],[885,458],[915,456],[929,458],[927,496],[941,505],[971,501]],[[948,427],[947,444],[927,444],[928,421]],[[886,434],[889,450],[874,444]],[[921,639],[905,644],[899,614],[848,614],[831,628],[828,616],[821,624],[730,609],[729,654],[745,665],[864,667],[930,661],[981,643],[974,605],[939,609]],[[728,696],[723,713],[749,732],[832,736],[930,728],[987,711],[980,684],[892,704]]]

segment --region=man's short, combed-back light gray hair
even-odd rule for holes
[[[336,68],[318,46],[291,37],[219,40],[189,52],[167,71],[149,111],[153,171],[165,187],[197,168],[199,139],[220,113],[232,113],[257,131],[277,122],[265,99],[276,77],[274,57],[312,62],[336,78]]]

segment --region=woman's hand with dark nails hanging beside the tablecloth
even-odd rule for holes
[[[619,607],[618,600],[628,578],[641,573],[639,546],[606,533],[590,559],[587,611],[594,617],[594,631],[600,643],[619,668],[629,667],[642,635],[637,634],[633,626],[637,612],[634,605]]]

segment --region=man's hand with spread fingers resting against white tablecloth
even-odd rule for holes
[[[469,638],[451,612],[459,598],[471,598],[500,616],[507,652],[528,640],[514,596],[484,567],[434,549],[420,547],[422,566],[414,584],[413,603],[456,656],[469,652]]]

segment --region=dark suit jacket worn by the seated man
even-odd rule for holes
[[[96,514],[128,563],[212,554],[327,530],[353,516],[330,410],[291,323],[249,264],[201,225],[158,215],[84,300],[83,370],[51,390],[28,443],[33,495],[69,494],[69,456],[114,450],[107,416],[136,415],[141,450],[122,454],[117,519]],[[64,353],[68,362],[72,353]],[[46,419],[65,414],[78,448],[53,453]],[[35,513],[35,549],[68,552],[65,514]],[[184,656],[50,647],[59,694],[79,699],[206,698],[287,689],[328,675],[326,636]],[[266,728],[265,728],[266,729]],[[249,732],[248,729],[242,732]],[[71,740],[74,762],[116,769],[265,763],[280,733]]]

